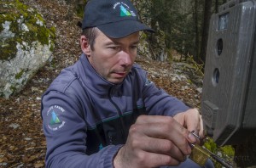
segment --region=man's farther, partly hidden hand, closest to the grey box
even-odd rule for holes
[[[195,133],[202,138],[205,136],[201,115],[197,109],[189,109],[183,113],[178,113],[173,118],[187,128],[189,132],[195,131]]]

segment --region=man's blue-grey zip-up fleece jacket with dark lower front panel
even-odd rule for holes
[[[125,80],[99,76],[84,54],[61,70],[42,98],[46,167],[113,167],[138,115],[176,115],[189,109],[148,81],[134,64]]]

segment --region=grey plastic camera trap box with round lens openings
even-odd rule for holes
[[[212,14],[201,112],[218,145],[256,130],[256,1],[231,0]]]

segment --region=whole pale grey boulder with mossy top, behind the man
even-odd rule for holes
[[[19,1],[0,6],[0,96],[9,98],[26,86],[51,57],[55,32],[34,9]]]

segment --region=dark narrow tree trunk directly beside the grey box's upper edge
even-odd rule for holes
[[[209,31],[209,24],[210,24],[211,15],[212,15],[211,7],[212,7],[212,0],[205,0],[204,20],[203,20],[202,36],[201,36],[201,59],[204,63],[206,62],[208,31]]]

